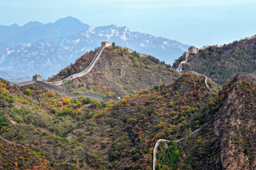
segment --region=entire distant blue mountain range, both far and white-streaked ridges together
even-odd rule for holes
[[[104,41],[150,54],[166,63],[173,63],[189,47],[117,25],[89,27],[73,17],[45,25],[0,25],[0,77],[16,79],[35,73],[44,78],[52,76]]]

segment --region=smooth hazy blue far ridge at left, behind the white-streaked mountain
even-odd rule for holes
[[[62,18],[45,25],[40,22],[28,22],[21,27],[17,24],[0,25],[0,41],[11,46],[20,43],[33,43],[42,37],[67,36],[88,27],[89,25],[73,17]]]

